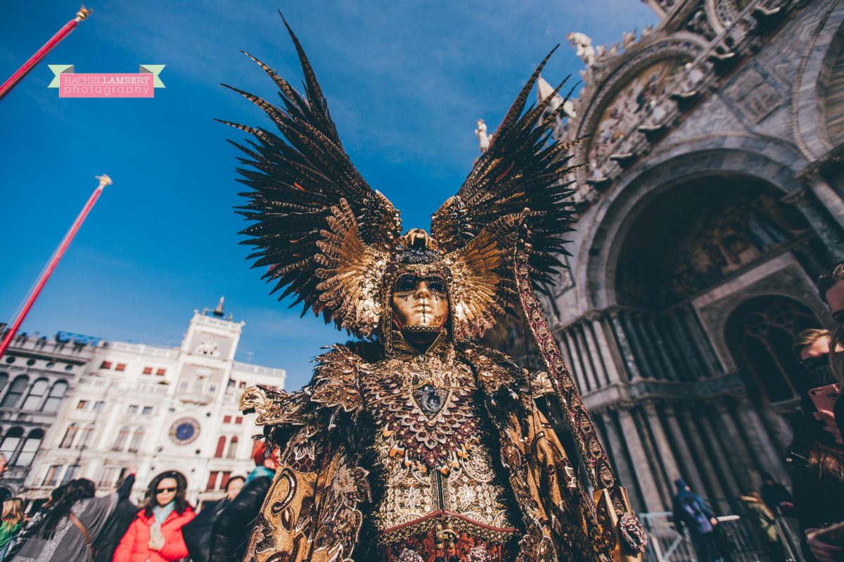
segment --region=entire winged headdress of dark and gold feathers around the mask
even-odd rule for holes
[[[246,53],[278,85],[284,106],[226,87],[265,111],[280,135],[224,122],[254,137],[248,146],[233,143],[248,156],[240,158],[248,167],[237,170],[238,181],[252,188],[242,194],[248,203],[240,212],[253,221],[242,243],[255,248],[253,267],[268,267],[263,277],[274,282],[273,292],[284,289],[279,300],[295,294],[294,305],[304,303],[305,311],[322,313],[360,338],[375,336],[390,290],[387,268],[404,247],[421,244],[451,273],[454,337],[476,338],[517,305],[513,257],[522,223],[534,288],[553,283],[550,273],[567,253],[560,236],[571,231],[571,182],[563,179],[576,168],[565,155],[571,143],[551,137],[563,104],[549,105],[563,84],[525,111],[550,53],[463,186],[431,217],[431,235],[411,230],[403,237],[398,210],[349,160],[305,51],[284,24],[305,75],[305,95]]]

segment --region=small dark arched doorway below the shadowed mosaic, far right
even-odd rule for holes
[[[809,390],[792,350],[795,336],[822,324],[809,308],[781,295],[745,301],[730,315],[726,339],[749,386],[768,403],[787,403]]]

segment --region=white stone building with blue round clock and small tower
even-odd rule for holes
[[[231,475],[252,463],[253,416],[237,409],[246,386],[284,386],[285,371],[235,361],[245,322],[194,311],[179,348],[102,342],[62,401],[27,478],[44,496],[73,478],[111,489],[136,471],[136,500],[149,480],[176,470],[188,499],[218,499]]]

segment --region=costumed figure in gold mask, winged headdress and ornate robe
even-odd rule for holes
[[[253,221],[244,243],[282,298],[296,295],[358,341],[322,354],[298,392],[253,386],[241,397],[284,451],[245,560],[641,558],[641,524],[533,292],[551,281],[571,230],[560,181],[574,169],[571,145],[549,138],[563,105],[542,121],[553,95],[524,109],[545,62],[431,234],[402,235],[398,211],[349,161],[290,36],[303,95],[256,59],[284,106],[235,89],[279,131],[227,122],[254,137],[237,145],[249,166],[241,213]],[[508,309],[524,315],[545,372],[528,376],[473,343]],[[549,423],[555,411],[593,495]]]

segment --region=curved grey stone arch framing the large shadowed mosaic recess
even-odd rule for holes
[[[783,162],[802,167],[799,154],[786,143],[744,135],[694,139],[652,154],[638,166],[637,174],[625,176],[612,188],[587,224],[578,224],[585,240],[582,261],[587,262],[576,272],[577,283],[586,288],[584,310],[618,304],[614,278],[621,241],[653,197],[685,181],[719,174],[753,177],[778,192],[792,192],[798,187],[795,170]]]

